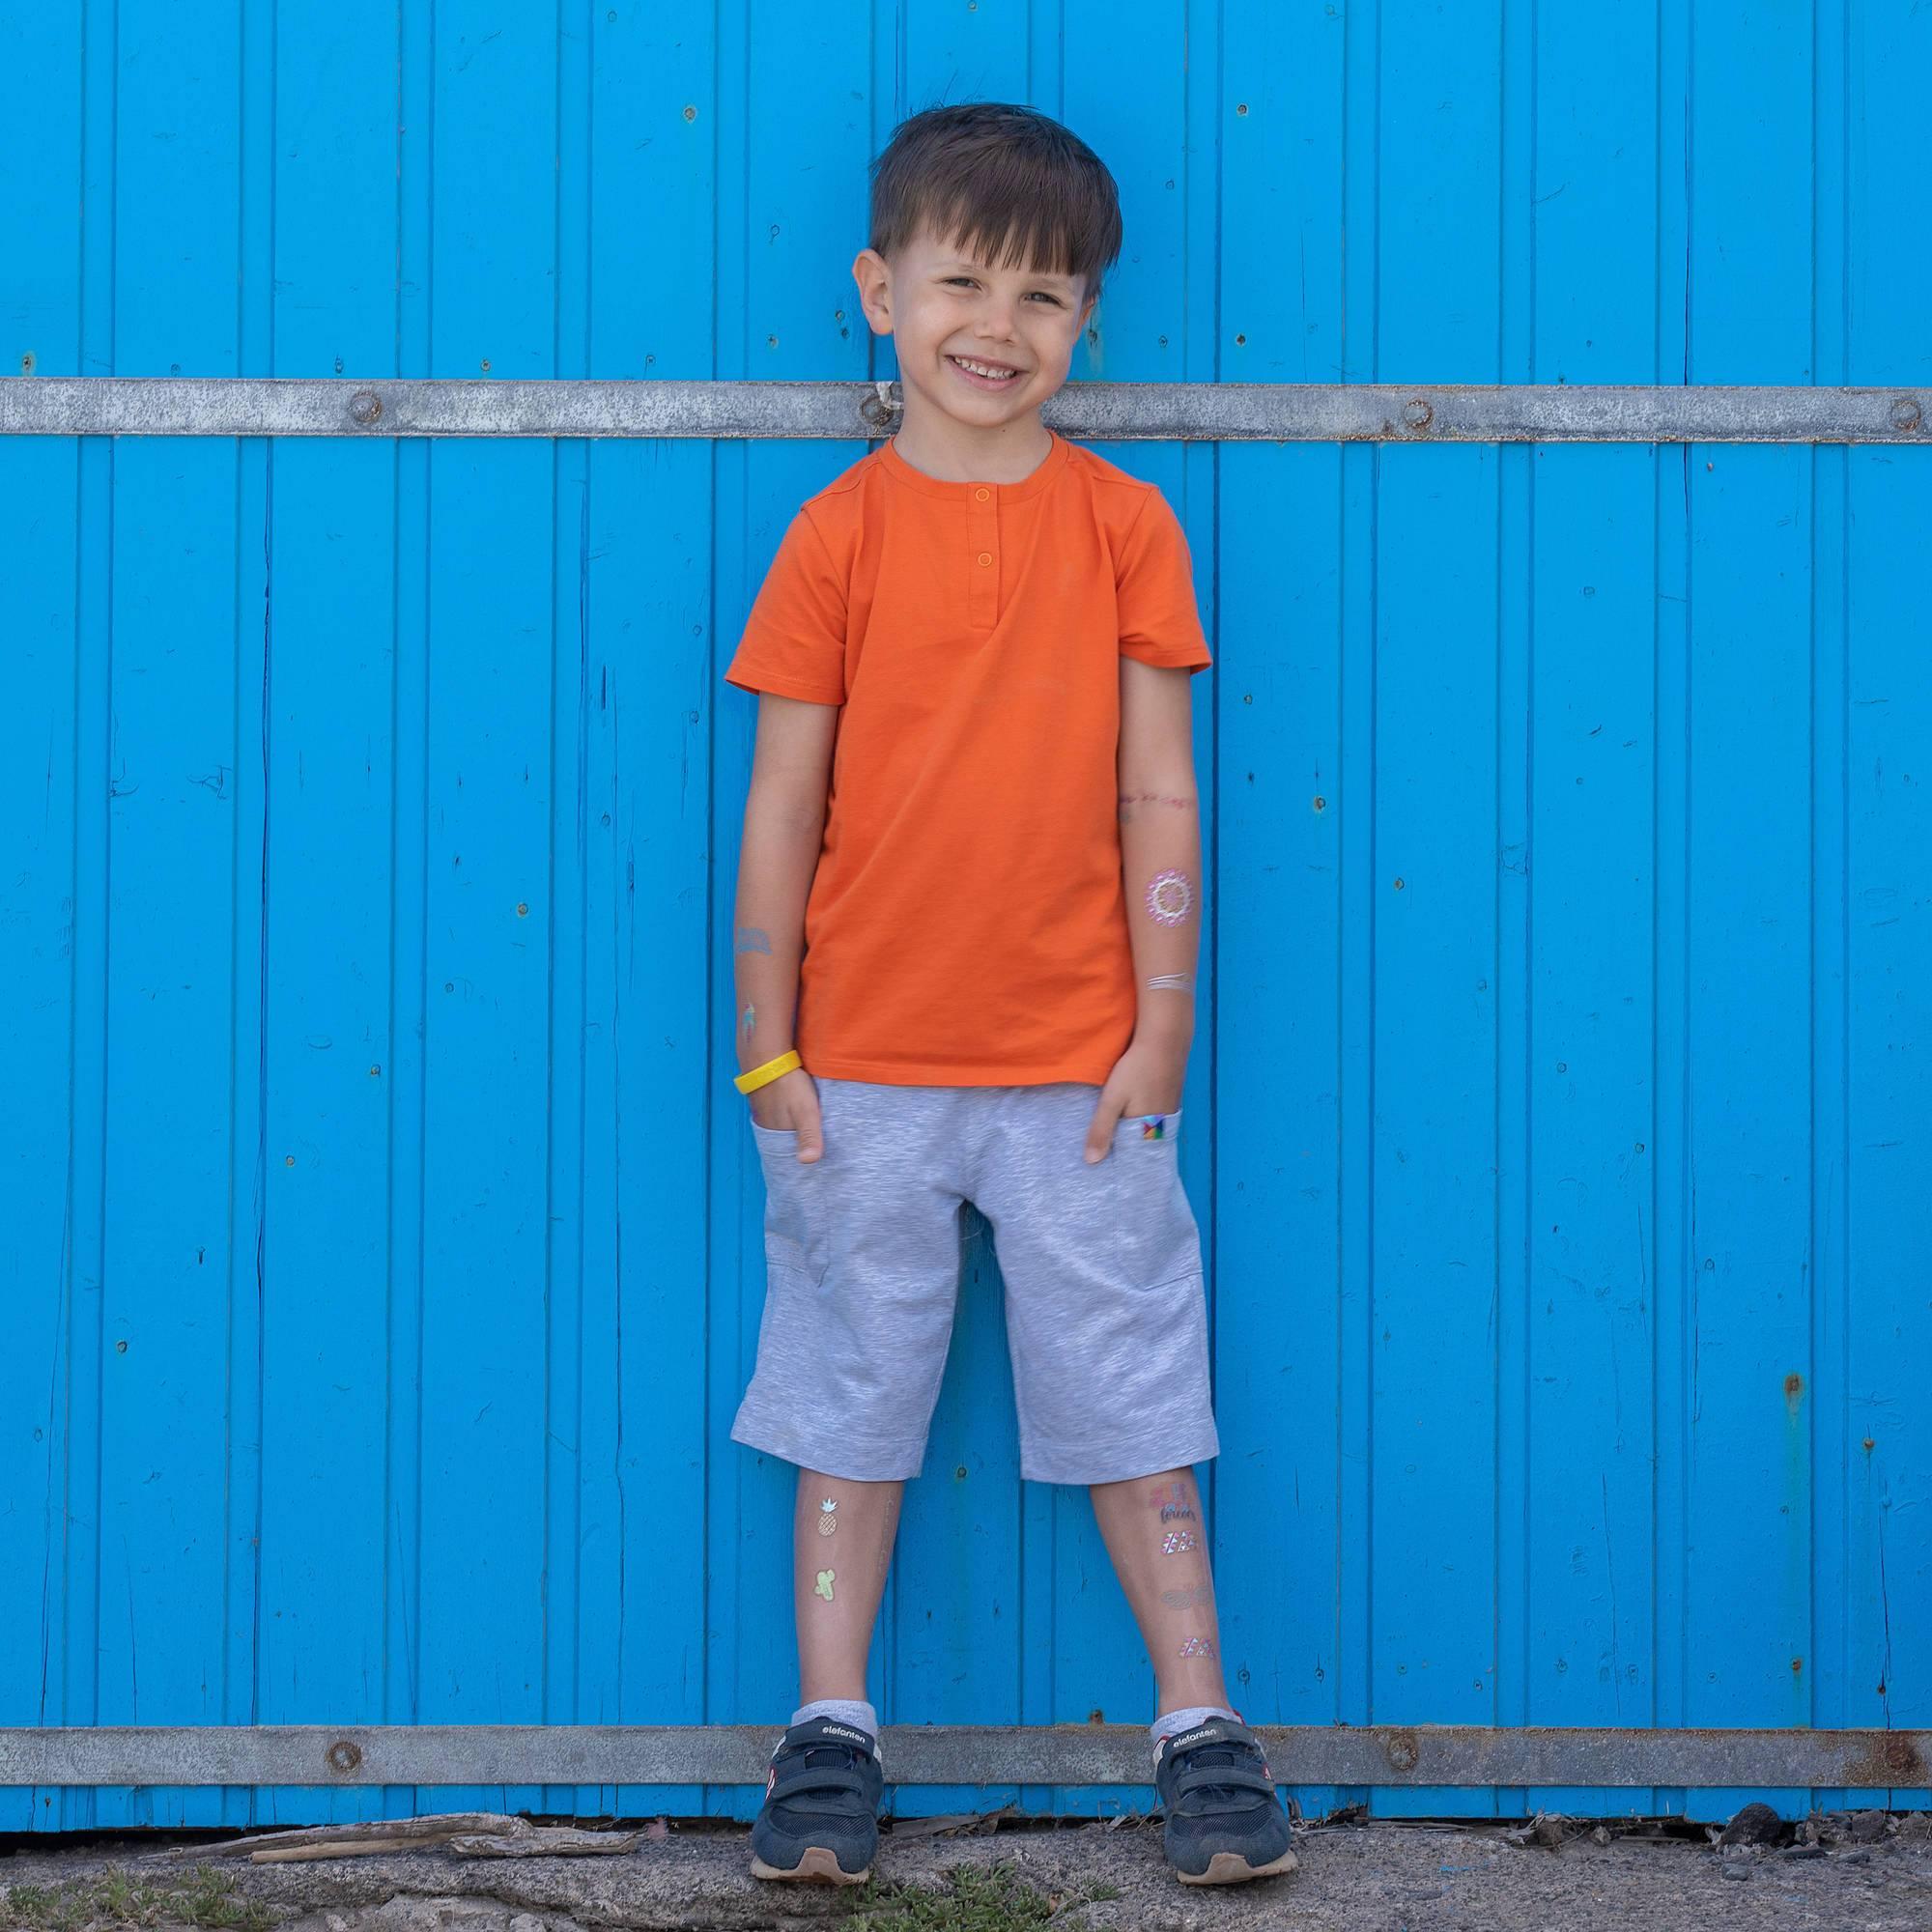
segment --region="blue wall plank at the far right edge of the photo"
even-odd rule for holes
[[[1924,126],[1889,77],[1932,58],[1932,15],[1851,8],[1849,131],[1851,383],[1932,384],[1932,263],[1901,249],[1922,207]],[[1849,1548],[1841,1723],[1932,1721],[1924,1631],[1932,1629],[1932,670],[1924,583],[1932,566],[1932,475],[1922,450],[1853,450],[1845,607],[1849,746],[1845,945],[1849,1227],[1845,1337]],[[1928,1793],[1893,1789],[1895,1806]],[[1870,1803],[1870,1801],[1868,1801]]]

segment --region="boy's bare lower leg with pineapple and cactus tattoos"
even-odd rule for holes
[[[904,1492],[902,1482],[798,1472],[792,1561],[800,1704],[866,1702],[866,1654]]]

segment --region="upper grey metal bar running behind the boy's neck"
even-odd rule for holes
[[[1161,442],[1932,442],[1891,388],[1567,383],[1068,383],[1043,419]],[[14,377],[15,437],[877,439],[896,383],[495,383],[437,377]]]

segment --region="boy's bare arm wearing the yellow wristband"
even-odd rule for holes
[[[837,705],[759,694],[732,914],[740,1072],[763,1066],[796,1043],[792,1020],[806,951],[806,900],[819,866],[837,728]],[[792,1109],[784,1105],[784,1090],[800,1084],[802,1072],[794,1068],[748,1095],[761,1126],[806,1124],[786,1119]],[[804,1086],[810,1092],[810,1082]]]

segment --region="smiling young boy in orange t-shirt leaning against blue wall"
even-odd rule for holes
[[[734,970],[767,1293],[732,1437],[798,1464],[800,1708],[761,1878],[856,1884],[877,1849],[866,1652],[966,1200],[1007,1283],[1022,1476],[1092,1486],[1153,1660],[1167,1857],[1190,1884],[1294,1864],[1221,1681],[1192,1476],[1219,1449],[1175,1148],[1208,643],[1161,493],[1039,419],[1119,251],[1113,178],[1057,122],[972,102],[896,129],[852,272],[904,415],[800,508],[724,672],[763,694]]]

